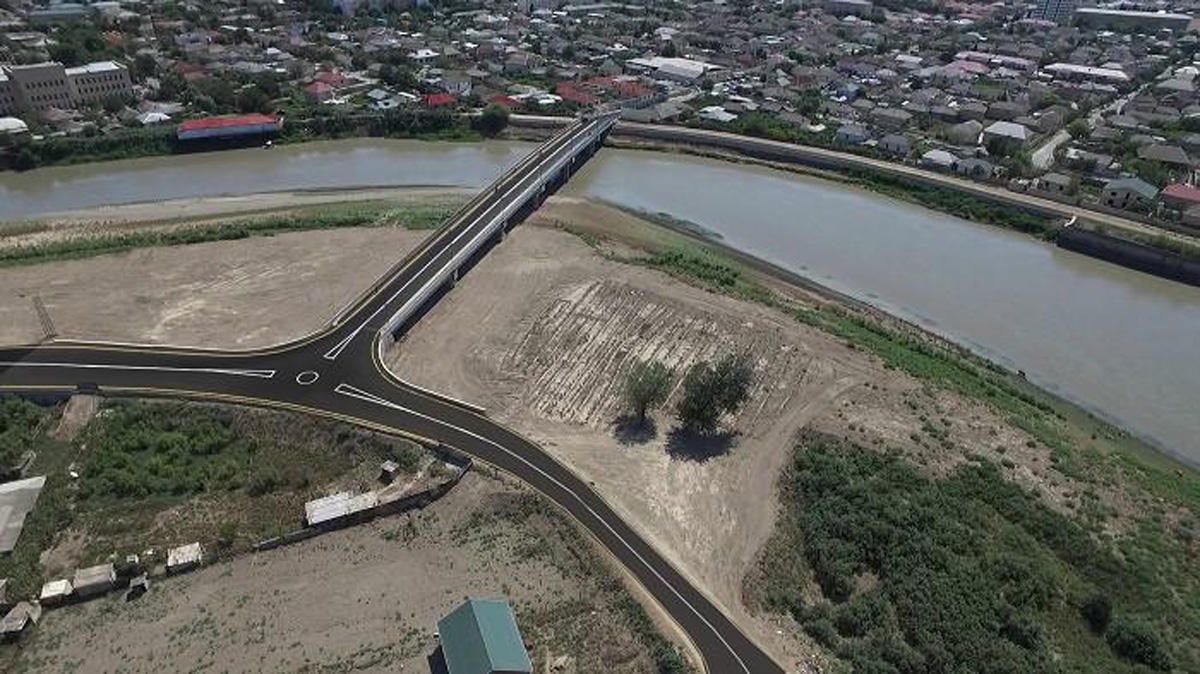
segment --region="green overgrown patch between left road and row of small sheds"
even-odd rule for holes
[[[68,482],[76,464],[65,498],[83,536],[78,565],[191,541],[242,552],[302,526],[305,501],[373,483],[384,459],[408,474],[425,459],[407,440],[305,415],[136,401],[107,402],[64,455],[47,485]]]

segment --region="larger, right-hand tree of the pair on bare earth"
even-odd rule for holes
[[[725,356],[715,368],[707,362],[696,363],[683,380],[676,415],[684,428],[712,433],[721,415],[742,407],[752,383],[754,366],[748,354]]]

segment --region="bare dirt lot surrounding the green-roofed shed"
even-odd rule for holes
[[[505,596],[539,672],[653,672],[612,572],[538,503],[469,474],[424,511],[49,610],[10,670],[427,672],[440,616]]]

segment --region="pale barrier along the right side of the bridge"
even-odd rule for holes
[[[608,115],[600,120],[593,120],[590,122],[584,122],[583,128],[587,128],[584,133],[581,133],[577,138],[570,142],[570,151],[564,156],[554,160],[548,167],[539,168],[541,171],[541,179],[526,187],[521,193],[508,201],[504,209],[500,210],[498,215],[492,217],[492,219],[480,229],[466,246],[458,249],[457,253],[450,259],[449,263],[442,266],[438,272],[425,283],[412,297],[408,299],[396,312],[388,319],[388,321],[380,327],[380,333],[391,336],[406,320],[408,320],[416,311],[425,305],[433,296],[433,294],[442,288],[443,284],[449,282],[451,277],[458,272],[458,269],[467,261],[467,259],[473,255],[485,241],[493,236],[500,228],[508,224],[509,217],[512,216],[517,210],[520,210],[529,198],[533,197],[538,191],[542,189],[554,175],[558,174],[569,162],[571,162],[584,148],[589,144],[595,143],[601,138],[605,132],[607,132],[613,124],[616,124],[617,118],[614,115]],[[599,122],[599,124],[596,124]],[[588,126],[592,128],[588,128]],[[554,152],[558,152],[556,150]],[[545,160],[544,160],[545,161]],[[490,188],[494,195],[496,188]],[[502,195],[503,198],[503,195]],[[379,339],[380,349],[380,361],[383,360],[383,349],[391,344],[391,339]]]

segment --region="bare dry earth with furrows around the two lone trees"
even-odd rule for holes
[[[781,663],[809,670],[822,657],[790,622],[752,610],[743,595],[770,536],[776,479],[798,429],[900,447],[932,471],[970,452],[997,462],[1007,452],[1019,480],[1051,486],[1045,450],[1025,447],[1028,437],[989,409],[926,390],[775,311],[612,261],[552,229],[581,216],[599,234],[644,227],[601,205],[552,200],[397,344],[389,365],[415,384],[485,405],[593,481]],[[683,437],[661,413],[650,438],[629,437],[617,423],[635,362],[656,359],[683,373],[740,351],[752,354],[757,380],[721,438]],[[920,435],[930,419],[944,426],[953,451]]]

